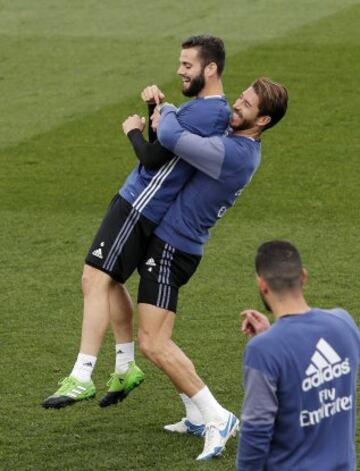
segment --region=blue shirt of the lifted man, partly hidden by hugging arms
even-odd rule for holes
[[[228,126],[230,108],[225,97],[199,97],[181,105],[176,116],[185,129],[195,134],[222,135]],[[135,210],[158,224],[194,172],[192,166],[176,156],[157,170],[139,164],[119,193]]]

